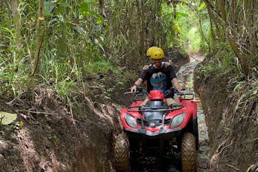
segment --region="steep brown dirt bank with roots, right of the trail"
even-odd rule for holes
[[[258,162],[257,80],[216,70],[214,55],[195,70],[194,88],[205,112],[210,171],[254,171]]]

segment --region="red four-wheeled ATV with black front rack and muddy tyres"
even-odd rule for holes
[[[127,92],[131,93],[131,92]],[[127,94],[125,93],[125,94]],[[130,171],[130,154],[136,157],[156,153],[160,158],[170,151],[181,152],[182,171],[196,172],[196,150],[198,149],[197,103],[193,93],[160,90],[148,94],[137,87],[134,102],[121,111],[124,132],[115,141],[115,160],[118,171]],[[168,105],[166,97],[176,93],[180,105]],[[145,106],[141,103],[148,96]],[[137,158],[134,158],[137,159]]]

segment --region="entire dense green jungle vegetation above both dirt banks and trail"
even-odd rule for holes
[[[6,0],[0,2],[0,95],[40,84],[71,105],[91,76],[130,73],[150,46],[221,52],[221,72],[257,78],[257,0]],[[186,46],[188,43],[189,46]],[[120,76],[121,77],[121,76]]]

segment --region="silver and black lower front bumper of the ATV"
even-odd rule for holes
[[[161,139],[161,140],[170,140],[175,138],[182,133],[182,129],[167,129],[162,128],[157,132],[147,131],[146,128],[138,128],[138,130],[124,129],[124,132],[128,135],[129,138],[134,138],[137,140],[145,139]]]

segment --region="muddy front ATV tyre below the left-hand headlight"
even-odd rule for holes
[[[126,134],[117,136],[114,149],[117,171],[129,172],[129,142]]]

